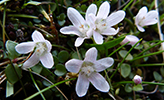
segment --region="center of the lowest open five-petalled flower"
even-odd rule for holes
[[[93,72],[95,72],[94,64],[92,62],[83,62],[81,72],[89,77]]]

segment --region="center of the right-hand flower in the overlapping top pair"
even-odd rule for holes
[[[97,19],[95,21],[96,30],[100,33],[107,28],[107,23],[105,19]]]

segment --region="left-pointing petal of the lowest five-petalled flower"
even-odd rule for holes
[[[65,67],[69,72],[78,73],[83,61],[78,59],[71,59],[65,63]]]

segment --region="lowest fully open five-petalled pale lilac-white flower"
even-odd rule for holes
[[[68,71],[79,73],[76,83],[76,93],[79,97],[82,97],[87,93],[89,82],[91,82],[99,91],[108,92],[110,89],[108,82],[98,72],[112,66],[114,60],[110,57],[100,60],[96,59],[97,49],[92,47],[86,52],[84,60],[71,59],[65,64]]]

